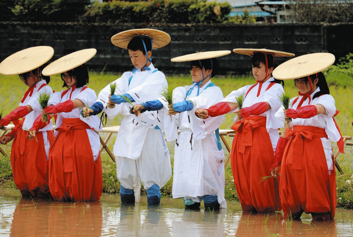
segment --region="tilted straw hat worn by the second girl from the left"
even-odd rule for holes
[[[44,76],[51,76],[62,72],[70,71],[71,69],[82,65],[96,55],[96,49],[82,49],[71,54],[60,57],[46,66],[42,74]]]

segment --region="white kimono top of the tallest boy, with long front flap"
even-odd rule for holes
[[[128,93],[135,101],[133,104],[140,104],[158,98],[162,88],[168,85],[167,80],[164,74],[158,71],[152,63],[149,68],[150,70],[141,71],[138,69],[134,73],[125,72],[122,74],[119,79],[112,82],[116,83],[115,94],[124,95]],[[115,156],[138,159],[148,129],[155,128],[145,127],[135,122],[136,116],[129,113],[131,108],[129,103],[116,104],[115,108],[112,109],[107,108],[106,105],[110,94],[109,85],[104,87],[99,93],[96,102],[103,103],[103,111],[107,114],[108,119],[112,119],[118,114],[125,116],[121,121],[120,129],[116,136],[113,153]]]

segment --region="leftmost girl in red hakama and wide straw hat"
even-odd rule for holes
[[[0,73],[19,74],[20,79],[29,89],[25,92],[19,107],[0,121],[0,128],[10,122],[16,126],[0,138],[1,144],[13,139],[11,147],[11,167],[13,180],[23,196],[50,197],[48,184],[48,153],[54,141],[53,123],[48,121],[37,133],[37,141],[27,139],[28,128],[41,114],[38,101],[40,93],[53,94],[47,84],[49,77],[42,77],[40,66],[53,56],[49,46],[38,46],[21,50],[0,63]],[[40,55],[40,57],[38,57]],[[7,66],[8,61],[18,60],[17,65]],[[42,80],[45,79],[45,80]],[[19,120],[23,118],[22,120]]]

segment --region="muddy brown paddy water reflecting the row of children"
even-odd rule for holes
[[[337,209],[334,221],[285,221],[281,213],[242,213],[239,203],[208,212],[185,211],[180,199],[159,208],[121,206],[116,195],[100,202],[63,203],[0,197],[0,236],[352,236],[353,211]]]

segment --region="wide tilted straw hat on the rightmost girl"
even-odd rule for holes
[[[283,62],[272,75],[279,80],[297,79],[322,72],[334,62],[335,56],[330,53],[305,54]]]

